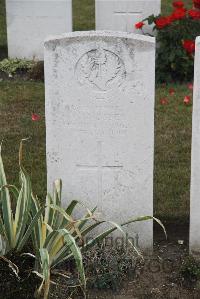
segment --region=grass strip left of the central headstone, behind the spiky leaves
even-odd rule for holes
[[[41,121],[33,122],[32,113]],[[24,163],[31,174],[38,196],[46,193],[44,84],[32,82],[0,82],[0,140],[9,182],[18,183],[18,149],[22,138]]]

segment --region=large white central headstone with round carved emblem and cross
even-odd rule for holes
[[[48,185],[122,223],[153,213],[154,38],[74,32],[45,42]],[[151,248],[152,221],[129,227]]]

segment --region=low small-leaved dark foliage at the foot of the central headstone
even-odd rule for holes
[[[137,255],[132,248],[114,247],[106,243],[95,246],[83,255],[88,286],[116,291],[127,275],[135,273]]]

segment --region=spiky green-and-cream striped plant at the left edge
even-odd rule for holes
[[[19,150],[21,185],[19,190],[15,186],[7,184],[0,145],[0,255],[5,255],[10,251],[20,252],[43,212],[43,208],[40,208],[30,219],[31,181],[21,164],[22,144],[23,140]]]

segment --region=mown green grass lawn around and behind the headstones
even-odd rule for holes
[[[192,1],[187,1],[191,3]],[[169,13],[171,0],[162,2]],[[94,28],[94,0],[73,0],[74,29]],[[0,0],[0,57],[5,56],[5,6]],[[190,146],[192,107],[183,104],[191,95],[185,85],[156,88],[155,111],[155,214],[161,219],[187,219],[189,215]],[[160,98],[168,97],[167,105]],[[32,122],[32,112],[41,115]],[[18,146],[30,137],[24,148],[24,163],[31,173],[34,192],[44,198],[46,192],[44,84],[38,82],[0,82],[0,139],[9,182],[18,182]]]

